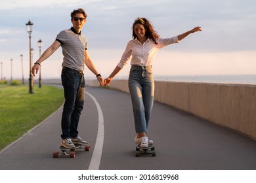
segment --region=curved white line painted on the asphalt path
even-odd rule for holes
[[[85,93],[93,99],[98,110],[98,134],[96,137],[95,149],[93,150],[93,157],[91,158],[91,162],[88,168],[89,170],[98,170],[100,167],[100,159],[104,142],[104,118],[100,105],[98,104],[98,101],[95,99],[95,97],[93,97],[93,95],[88,92]]]

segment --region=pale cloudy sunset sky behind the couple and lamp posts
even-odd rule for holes
[[[116,67],[132,24],[138,17],[150,20],[161,37],[173,37],[201,26],[179,44],[162,48],[153,63],[154,75],[256,75],[255,0],[0,0],[1,75],[9,80],[29,77],[29,35],[26,23],[33,22],[33,62],[56,35],[72,26],[70,12],[83,8],[87,22],[82,33],[96,69],[107,77]],[[42,78],[60,78],[62,49],[41,63]],[[11,67],[12,59],[12,67]],[[116,76],[127,78],[129,64]],[[95,76],[85,67],[85,77]],[[38,75],[35,76],[38,79]]]

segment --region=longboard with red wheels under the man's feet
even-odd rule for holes
[[[59,156],[69,156],[70,158],[75,158],[75,150],[85,150],[85,151],[90,151],[91,146],[88,145],[76,145],[74,148],[65,148],[64,146],[59,146],[58,148],[61,153],[59,152],[53,152],[53,158],[58,158]],[[69,153],[68,153],[69,151]]]

